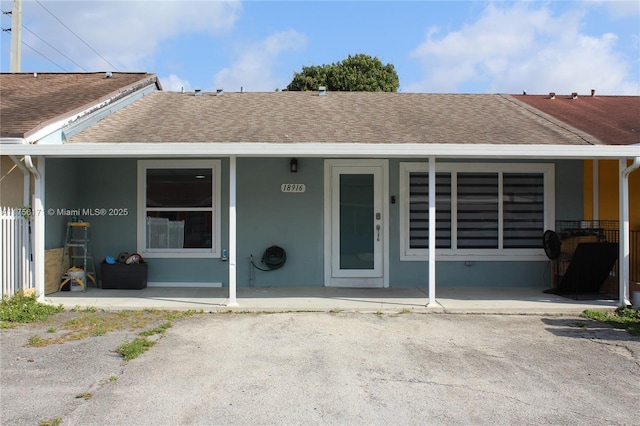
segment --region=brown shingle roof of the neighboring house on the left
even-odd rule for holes
[[[61,117],[138,84],[159,84],[147,73],[2,73],[0,137],[23,138]]]

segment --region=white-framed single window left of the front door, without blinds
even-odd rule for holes
[[[220,256],[220,161],[138,162],[138,252]]]

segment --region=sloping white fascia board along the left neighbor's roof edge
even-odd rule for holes
[[[86,116],[87,114],[91,114],[96,109],[104,108],[105,106],[120,98],[127,97],[131,93],[135,93],[141,88],[145,88],[148,86],[152,86],[154,88],[157,87],[156,82],[157,77],[153,75],[151,77],[146,77],[136,83],[122,87],[114,92],[109,93],[108,95],[99,98],[97,101],[90,102],[86,105],[81,106],[80,108],[76,108],[75,110],[66,112],[58,117],[41,123],[33,129],[25,132],[24,139],[26,143],[35,143],[39,139],[55,132],[56,130],[61,129],[65,125],[70,124],[75,120]]]

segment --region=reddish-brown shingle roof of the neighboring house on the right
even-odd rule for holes
[[[518,95],[540,111],[609,145],[640,143],[640,96]]]

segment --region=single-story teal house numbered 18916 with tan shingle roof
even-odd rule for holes
[[[584,218],[584,161],[640,164],[499,94],[155,90],[62,143],[2,149],[38,158],[40,252],[79,212],[97,259],[136,252],[150,286],[228,287],[230,304],[239,286],[418,286],[429,303],[549,287],[542,235]]]

